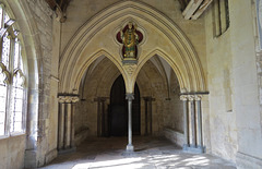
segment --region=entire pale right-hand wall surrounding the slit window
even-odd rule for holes
[[[212,8],[205,17],[211,147],[238,168],[261,168],[255,5],[253,0],[228,2],[230,26],[223,35],[213,36]]]

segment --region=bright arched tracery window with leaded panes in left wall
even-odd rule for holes
[[[14,23],[0,4],[0,136],[25,131],[25,75]]]

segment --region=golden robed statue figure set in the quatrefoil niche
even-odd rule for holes
[[[124,46],[123,58],[135,58],[135,46],[139,44],[139,35],[135,33],[136,25],[132,22],[128,23],[128,28],[123,33],[120,31],[121,39]]]

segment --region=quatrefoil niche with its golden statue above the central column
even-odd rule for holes
[[[122,44],[123,63],[136,63],[138,45],[143,40],[143,34],[136,29],[136,24],[129,22],[117,34],[117,40]]]

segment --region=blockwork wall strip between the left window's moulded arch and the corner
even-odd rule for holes
[[[32,20],[36,23],[36,36],[39,37],[39,56],[38,58],[38,69],[39,69],[39,107],[38,107],[38,137],[37,137],[37,155],[34,159],[25,157],[25,167],[43,166],[46,162],[46,154],[56,147],[56,137],[52,137],[53,125],[50,124],[55,118],[50,116],[49,111],[49,98],[50,98],[50,72],[51,72],[51,57],[52,57],[52,11],[49,9],[45,0],[27,0]],[[33,101],[33,100],[32,100]],[[31,119],[29,119],[31,120]],[[29,121],[27,121],[29,122]],[[50,124],[50,125],[49,125]],[[57,129],[55,126],[55,129]],[[28,129],[27,129],[28,130]],[[51,142],[49,142],[49,136]],[[32,150],[26,149],[26,150]],[[36,150],[36,149],[34,149]],[[32,161],[31,161],[32,160]]]

